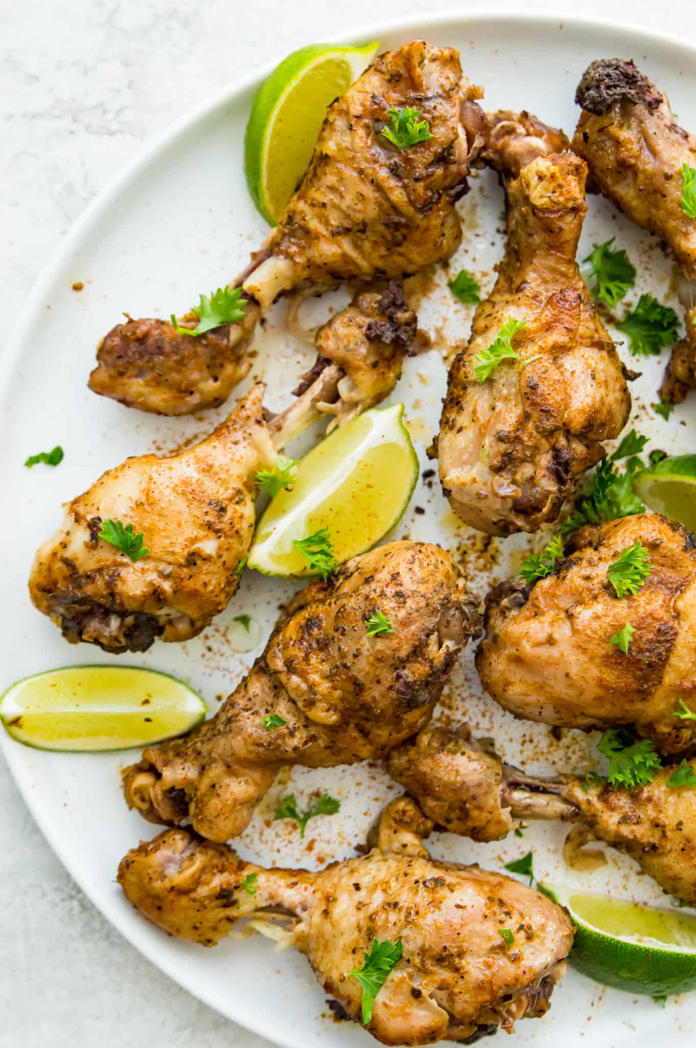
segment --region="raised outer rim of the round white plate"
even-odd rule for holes
[[[322,42],[329,44],[350,45],[376,39],[387,32],[392,34],[403,31],[404,34],[408,34],[409,31],[423,30],[424,28],[426,32],[430,32],[432,30],[436,31],[440,26],[447,23],[468,25],[477,21],[485,21],[498,25],[502,25],[504,23],[523,23],[525,26],[536,23],[544,28],[556,26],[563,30],[568,29],[570,31],[574,28],[599,29],[605,32],[614,31],[615,34],[623,35],[627,39],[627,42],[631,43],[631,46],[635,46],[635,44],[643,44],[649,47],[667,46],[688,60],[690,59],[693,61],[696,59],[696,44],[689,43],[688,41],[676,37],[674,34],[653,29],[643,22],[628,24],[620,19],[567,14],[563,12],[556,12],[552,7],[540,10],[519,10],[514,7],[508,7],[491,12],[481,6],[476,6],[466,12],[436,10],[431,14],[417,13],[412,16],[409,15],[401,18],[383,19],[382,21],[376,23],[368,22],[345,34],[328,34]],[[249,73],[246,77],[234,79],[226,87],[220,89],[215,94],[209,95],[198,105],[193,106],[182,116],[157,133],[149,145],[139,149],[134,158],[125,165],[116,175],[110,178],[96,193],[94,198],[87,204],[82,214],[75,219],[68,232],[60,240],[38,278],[33,282],[31,290],[26,297],[24,304],[10,329],[4,347],[0,350],[3,365],[0,372],[0,402],[6,402],[7,389],[14,377],[16,365],[18,363],[17,358],[25,342],[27,329],[37,318],[38,311],[42,308],[48,288],[58,276],[64,262],[67,260],[71,252],[74,250],[74,247],[80,242],[83,234],[89,230],[90,225],[98,221],[99,217],[112,205],[114,199],[127,191],[128,188],[137,180],[140,172],[154,161],[160,153],[174,146],[179,137],[185,135],[195,124],[204,119],[217,108],[225,105],[226,103],[230,103],[245,91],[261,85],[261,83],[275,68],[276,64],[277,62],[274,61],[265,63],[260,70]],[[249,203],[252,205],[251,200]],[[119,933],[119,935],[121,935],[126,941],[137,949],[151,964],[163,973],[169,979],[172,979],[173,982],[175,982],[192,997],[200,1000],[218,1014],[223,1016],[224,1019],[237,1023],[242,1029],[248,1030],[257,1036],[265,1038],[273,1044],[283,1046],[283,1048],[296,1048],[296,1040],[291,1035],[286,1034],[284,1027],[274,1026],[273,1020],[266,1020],[263,1009],[259,1009],[256,1013],[254,1013],[253,1018],[247,1018],[246,1016],[243,1019],[239,1019],[237,1017],[232,1018],[230,1012],[222,1011],[218,1007],[218,1004],[212,999],[212,996],[208,995],[205,988],[197,988],[196,990],[192,989],[175,970],[179,965],[173,961],[171,962],[166,954],[161,956],[159,951],[151,945],[148,936],[144,934],[145,930],[150,927],[145,921],[142,922],[143,934],[141,935],[140,926],[137,922],[133,923],[133,925],[129,925],[128,922],[121,919],[122,914],[119,912],[119,908],[115,903],[112,903],[111,900],[107,899],[100,899],[99,901],[96,900],[95,896],[92,894],[91,888],[85,885],[82,873],[80,872],[80,867],[76,861],[73,861],[72,853],[69,851],[67,846],[64,848],[60,830],[58,828],[53,829],[48,821],[48,817],[44,817],[38,802],[35,802],[31,789],[28,788],[26,782],[24,781],[24,769],[19,761],[19,750],[15,748],[21,745],[21,743],[17,743],[12,740],[6,733],[0,733],[0,747],[2,748],[5,760],[7,761],[7,766],[13,777],[14,784],[20,792],[23,802],[26,804],[31,817],[36,822],[42,835],[57,855],[66,872],[75,881],[81,891],[84,892],[90,903],[99,912],[99,914],[108,920],[109,923]],[[15,759],[16,754],[17,760]],[[230,998],[230,1001],[231,1000],[232,998]]]

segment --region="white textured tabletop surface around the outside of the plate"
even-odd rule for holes
[[[440,0],[435,6],[461,10],[464,5]],[[488,10],[503,6],[549,5],[486,4]],[[579,6],[558,0],[554,9],[562,18]],[[0,6],[3,328],[87,202],[181,113],[302,43],[361,27],[371,18],[432,7],[429,0],[408,5],[24,0],[12,7],[5,0]],[[669,8],[654,0],[633,0],[630,7],[619,0],[585,0],[582,9],[696,39],[696,5],[690,0],[673,0]],[[250,1048],[259,1043],[171,983],[111,929],[43,840],[4,765],[0,776],[0,1046],[163,1048],[175,1042]],[[268,992],[260,973],[260,1000]]]

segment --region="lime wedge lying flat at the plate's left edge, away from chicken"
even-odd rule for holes
[[[189,732],[206,705],[187,684],[129,665],[68,665],[25,677],[0,699],[7,733],[27,746],[130,749]]]

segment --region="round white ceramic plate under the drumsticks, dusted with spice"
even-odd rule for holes
[[[696,127],[696,51],[654,34],[552,16],[470,15],[371,27],[354,42],[379,39],[387,48],[416,36],[458,48],[467,75],[486,87],[488,108],[526,107],[568,132],[578,116],[575,87],[588,62],[633,57],[669,93],[681,123]],[[185,118],[100,195],[40,280],[9,341],[0,418],[2,489],[6,506],[12,507],[0,518],[0,577],[5,592],[0,635],[9,640],[2,668],[5,685],[57,665],[110,660],[87,646],[68,647],[28,599],[26,578],[33,550],[59,524],[61,502],[127,455],[173,450],[209,431],[223,415],[221,410],[198,418],[155,418],[94,396],[85,383],[98,337],[118,321],[121,310],[134,316],[180,313],[198,301],[199,292],[207,293],[239,271],[263,240],[267,231],[253,210],[242,173],[244,128],[260,82],[261,78],[239,85]],[[497,217],[502,195],[495,178],[489,173],[476,176],[459,206],[465,237],[452,271],[461,266],[475,270],[487,290],[502,244]],[[627,302],[633,304],[642,290],[651,290],[678,310],[669,287],[671,263],[657,242],[602,199],[591,199],[582,247],[589,249],[592,241],[612,235],[639,268],[639,283]],[[581,250],[580,257],[585,254]],[[85,285],[81,292],[71,290],[77,281]],[[325,314],[329,306],[324,300],[318,308]],[[392,397],[406,403],[423,468],[429,466],[425,447],[436,432],[445,389],[443,355],[466,335],[470,315],[470,308],[453,302],[441,274],[421,310],[435,349],[408,363]],[[280,321],[279,309],[260,332],[253,369],[268,381],[271,407],[288,402],[288,390],[310,359],[285,334]],[[628,363],[635,363],[625,348],[622,353]],[[687,428],[688,418],[693,423],[690,403],[673,412],[669,425],[645,407],[655,399],[664,364],[665,357],[641,358],[644,377],[632,387],[635,407],[629,424],[650,435],[650,447],[670,453],[693,450],[693,431]],[[65,449],[59,468],[24,468],[27,455],[59,442]],[[416,515],[416,506],[427,512]],[[437,486],[423,483],[395,537],[405,534],[440,541],[455,552],[480,595],[511,566],[519,565],[518,550],[524,545],[524,540],[508,540],[503,552],[493,540],[486,552],[488,541],[457,524]],[[481,571],[491,565],[492,570]],[[275,617],[277,602],[293,588],[248,572],[233,604],[202,636],[180,646],[158,642],[147,654],[125,661],[190,681],[215,711],[216,697],[226,695],[249,668]],[[235,634],[231,621],[243,612],[253,616],[253,638],[260,641],[247,653],[239,652],[239,630]],[[481,697],[471,651],[462,658],[445,703],[468,718],[478,734],[493,735],[509,760],[531,770],[587,767],[592,749],[586,736],[566,733],[564,741],[556,743],[544,726],[514,722]],[[126,809],[120,795],[118,771],[134,754],[42,754],[5,737],[2,746],[37,822],[72,876],[162,970],[225,1016],[289,1048],[307,1048],[319,1041],[342,1048],[368,1044],[358,1026],[332,1021],[324,995],[301,956],[292,951],[275,954],[272,944],[259,937],[248,942],[228,940],[212,951],[177,942],[145,923],[125,901],[114,882],[118,860],[140,837],[155,833],[154,827]],[[312,821],[305,842],[294,824],[271,822],[275,801],[288,791],[290,779],[300,796],[321,786],[342,800],[341,814]],[[364,839],[385,798],[397,792],[379,768],[295,769],[276,784],[237,847],[244,855],[277,865],[316,867],[354,854],[354,845]],[[511,836],[481,846],[443,834],[432,838],[432,848],[437,856],[480,861],[493,869],[531,848],[540,878],[571,878],[592,890],[669,904],[653,881],[639,876],[635,865],[615,852],[604,870],[592,874],[564,870],[559,864],[563,835],[562,827],[539,825],[526,830],[522,840]],[[534,1039],[537,1048],[556,1048],[561,1038],[565,1045],[581,1045],[587,1043],[586,1034],[604,1048],[634,1044],[636,1036],[645,1045],[656,1044],[658,1036],[686,1045],[695,1022],[696,995],[671,1001],[663,1010],[650,999],[606,990],[570,971],[554,994],[549,1014],[542,1023],[519,1023],[515,1036],[520,1045]],[[499,1041],[503,1036],[497,1034]]]

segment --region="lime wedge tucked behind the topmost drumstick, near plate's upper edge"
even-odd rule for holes
[[[249,193],[275,225],[316,146],[327,109],[367,67],[378,44],[312,44],[293,51],[264,81],[244,137]]]

